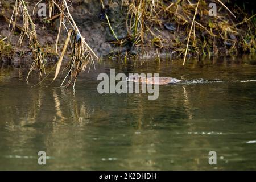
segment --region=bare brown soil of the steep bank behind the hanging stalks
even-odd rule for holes
[[[29,1],[30,13],[32,15],[32,9],[38,2],[38,0]],[[112,35],[109,25],[106,23],[106,18],[104,13],[106,12],[109,16],[110,23],[112,24],[113,30],[119,39],[123,39],[127,35],[126,30],[126,16],[127,9],[122,6],[122,1],[104,1],[105,10],[102,10],[100,0],[76,0],[72,1],[70,6],[70,11],[79,26],[82,36],[85,37],[86,42],[93,49],[93,51],[100,57],[110,57],[113,55],[125,55],[126,52],[129,52],[130,55],[141,55],[143,57],[150,57],[156,55],[156,48],[152,45],[152,37],[146,35],[146,46],[144,47],[143,54],[141,52],[140,46],[133,46],[132,44],[126,44],[122,48],[115,46],[112,41],[115,40]],[[14,35],[11,34],[9,27],[9,20],[11,13],[14,7],[15,1],[1,1],[0,7],[0,39],[5,37],[8,38],[10,43],[13,46],[14,54],[10,56],[2,56],[2,62],[13,63],[14,65],[19,65],[22,60],[26,62],[31,61],[31,50],[28,47],[28,41],[25,39],[23,44],[19,47],[19,28],[15,29]],[[47,7],[48,8],[48,7]],[[48,64],[58,60],[58,55],[55,53],[55,40],[57,37],[57,32],[59,28],[59,19],[53,20],[50,23],[46,22],[43,18],[39,17],[36,13],[38,7],[35,7],[35,13],[32,16],[34,23],[36,24],[36,31],[38,34],[38,41],[43,47],[44,52],[47,53]],[[47,16],[49,16],[49,11],[47,10]],[[181,12],[182,13],[182,12]],[[179,39],[181,43],[186,42],[187,39],[187,30],[184,29],[179,24],[170,22],[169,19],[161,19],[162,23],[160,26],[152,28],[152,31],[161,35],[166,39],[166,42],[163,42],[164,47],[161,49],[160,54],[172,55],[176,52],[175,44],[173,43],[175,39]],[[17,23],[18,26],[22,26],[22,19],[19,18]],[[205,34],[204,31],[201,34]],[[67,32],[63,30],[60,35],[60,44],[64,44],[65,36]],[[61,46],[60,46],[61,48]],[[220,46],[220,52],[226,52],[226,46]],[[59,52],[61,49],[59,49]],[[175,53],[174,53],[175,55]],[[68,57],[65,57],[68,59]],[[0,60],[1,61],[1,60]]]

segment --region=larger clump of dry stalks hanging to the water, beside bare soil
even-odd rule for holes
[[[67,26],[64,23],[69,22],[69,26],[71,26],[72,31],[68,32],[68,38],[65,41],[65,45],[63,47],[63,51],[61,53],[61,57],[57,63],[58,67],[55,72],[55,78],[59,73],[60,65],[64,56],[64,53],[67,49],[67,44],[69,41],[69,37],[72,34],[72,58],[71,61],[69,61],[69,71],[67,76],[65,76],[61,86],[63,86],[64,82],[67,80],[67,83],[64,85],[64,87],[69,85],[75,85],[77,76],[79,76],[79,73],[81,71],[85,71],[85,69],[88,67],[89,64],[89,70],[90,66],[94,65],[94,58],[98,60],[97,55],[93,52],[92,48],[89,47],[89,45],[85,42],[85,38],[81,36],[79,28],[76,26],[75,20],[73,20],[71,13],[69,12],[67,1],[53,1],[54,5],[56,5],[60,11],[60,27],[59,27],[59,34],[61,30],[61,24],[67,29]],[[58,35],[59,37],[59,35]],[[57,50],[57,41],[56,41],[56,50]],[[54,78],[54,79],[55,79]],[[53,80],[54,80],[53,79]]]

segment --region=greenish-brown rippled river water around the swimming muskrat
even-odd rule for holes
[[[148,94],[100,94],[99,73],[184,81]],[[48,69],[49,71],[49,69]],[[0,169],[256,169],[256,59],[101,61],[73,88],[0,70]],[[65,75],[61,77],[64,78]],[[46,165],[38,164],[45,151]],[[209,151],[217,164],[209,164]]]

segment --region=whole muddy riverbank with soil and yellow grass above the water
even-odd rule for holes
[[[49,20],[48,6],[47,17],[38,16],[38,7],[35,7],[32,15],[38,1],[30,2],[28,10],[36,25],[38,41],[47,58],[46,64],[55,62],[59,59],[55,52],[59,18]],[[156,1],[154,6],[148,6],[147,1],[141,2],[144,3],[104,1],[103,9],[101,1],[77,0],[69,3],[69,10],[82,36],[99,57],[184,56],[197,1]],[[208,6],[211,2],[217,5],[217,16],[209,16]],[[218,1],[200,2],[189,39],[188,56],[255,52],[256,21],[251,8],[255,3],[222,2],[228,9]],[[8,30],[15,1],[2,1],[1,5],[0,39],[6,38],[2,41],[5,49],[0,53],[1,60],[14,64],[20,64],[20,60],[31,61],[31,49],[26,38],[21,47],[17,45],[20,27],[23,26],[22,17],[17,19],[14,34]],[[136,15],[138,18],[135,18]],[[137,30],[134,30],[136,26]],[[63,29],[59,44],[64,44],[65,36],[67,31]],[[68,56],[65,59],[68,60]]]

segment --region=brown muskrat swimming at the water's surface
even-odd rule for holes
[[[126,78],[127,81],[140,82],[142,84],[152,84],[152,85],[166,85],[166,84],[176,84],[181,80],[171,77],[158,77],[158,80],[155,80],[155,77],[143,77],[139,75],[133,75]]]

